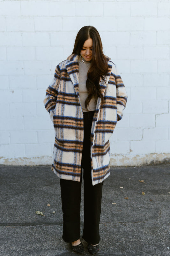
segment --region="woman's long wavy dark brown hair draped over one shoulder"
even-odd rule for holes
[[[104,79],[104,76],[108,72],[108,63],[106,57],[103,54],[103,46],[99,32],[92,26],[85,26],[78,31],[76,40],[74,43],[74,49],[72,53],[80,54],[85,41],[92,38],[92,61],[89,71],[87,73],[86,87],[89,93],[85,100],[85,108],[87,110],[90,100],[94,97],[97,100],[101,98],[101,105],[103,104],[103,95],[100,91],[100,77]]]

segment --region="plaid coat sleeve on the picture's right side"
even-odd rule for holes
[[[115,82],[116,82],[117,121],[119,121],[122,119],[123,109],[126,106],[128,96],[127,96],[122,78],[119,75],[119,72],[117,70],[117,67],[115,66],[115,68],[116,68]]]

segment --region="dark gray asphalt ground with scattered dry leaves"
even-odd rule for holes
[[[0,184],[0,256],[78,255],[62,240],[59,179],[50,166],[0,165]],[[170,255],[170,164],[111,168],[100,236],[98,256]]]

